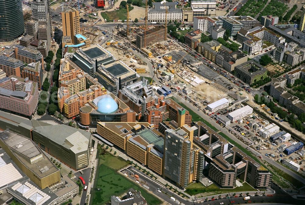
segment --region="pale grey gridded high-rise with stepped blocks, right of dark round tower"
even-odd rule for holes
[[[32,7],[32,17],[34,20],[38,21],[38,40],[47,41],[48,50],[51,47],[51,21],[49,12],[49,0],[34,0],[31,3]],[[45,27],[40,27],[40,25],[46,25]],[[39,35],[43,32],[43,35]],[[45,35],[46,34],[46,35]]]

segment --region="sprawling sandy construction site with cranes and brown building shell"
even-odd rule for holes
[[[82,34],[91,40],[91,44],[101,45],[140,76],[157,77],[160,83],[198,108],[228,96],[218,88],[222,85],[215,81],[217,73],[189,55],[176,41],[167,38],[167,21],[165,25],[148,25],[147,21],[136,25],[130,22],[128,4],[126,7],[127,25],[118,22],[114,26],[100,26],[99,19],[81,13],[88,19],[81,24]],[[145,16],[147,8],[146,2]],[[153,84],[153,80],[150,83]],[[154,86],[158,87],[157,84]]]

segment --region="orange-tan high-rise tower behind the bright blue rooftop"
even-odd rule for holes
[[[81,33],[79,25],[79,11],[71,9],[61,13],[63,19],[63,36],[71,36],[74,44],[74,35]]]

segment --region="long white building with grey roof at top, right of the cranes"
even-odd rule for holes
[[[152,8],[148,11],[147,20],[150,22],[165,22],[167,9],[167,22],[181,21],[182,9],[177,8],[176,2],[153,2]]]

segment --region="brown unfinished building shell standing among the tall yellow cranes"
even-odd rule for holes
[[[164,25],[154,26],[151,29],[137,35],[136,45],[138,48],[145,48],[151,44],[165,40],[165,34],[167,34],[167,28]]]

